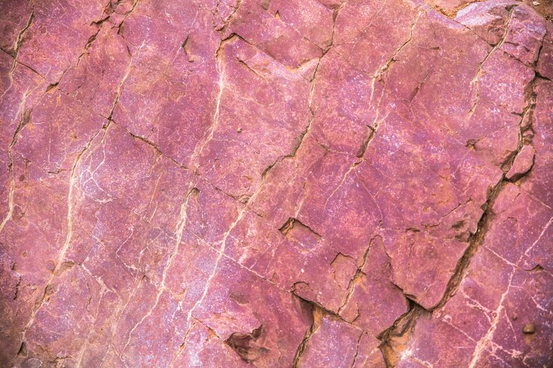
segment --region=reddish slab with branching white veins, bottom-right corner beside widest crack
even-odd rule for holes
[[[409,347],[401,354],[404,364],[454,361],[478,367],[550,362],[549,356],[537,351],[551,349],[550,327],[545,322],[551,298],[545,295],[544,284],[551,275],[528,256],[541,248],[544,235],[549,236],[553,213],[512,184],[502,189],[491,209],[494,221],[465,278],[444,307],[419,320]],[[532,215],[525,209],[532,209]],[[490,275],[494,275],[493,285],[489,284]],[[528,322],[542,329],[535,338],[524,336],[522,329]],[[435,345],[427,343],[427,336],[435,337]],[[444,342],[439,336],[463,343]]]

